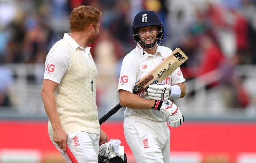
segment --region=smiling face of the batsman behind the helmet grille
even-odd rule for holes
[[[141,43],[144,42],[145,44],[152,44],[157,38],[159,29],[157,26],[145,26],[138,28],[137,33],[139,33],[140,41],[142,41]]]

